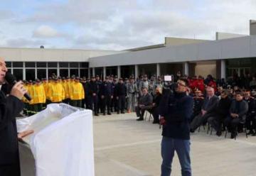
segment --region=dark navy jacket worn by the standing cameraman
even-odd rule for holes
[[[164,116],[162,136],[189,140],[189,119],[193,114],[193,98],[186,93],[164,95],[159,105],[160,115]]]

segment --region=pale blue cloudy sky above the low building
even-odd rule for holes
[[[249,35],[255,0],[1,0],[0,47],[125,50]]]

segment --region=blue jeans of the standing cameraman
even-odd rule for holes
[[[181,175],[191,176],[191,159],[190,159],[190,141],[175,139],[175,138],[162,138],[161,141],[161,156],[163,162],[161,164],[161,176],[171,175],[171,163],[174,158],[174,151],[178,155],[178,160],[181,164]]]

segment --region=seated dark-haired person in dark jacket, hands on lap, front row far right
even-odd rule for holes
[[[225,126],[231,132],[231,138],[235,138],[237,135],[235,128],[238,127],[238,124],[244,123],[246,119],[248,104],[242,98],[242,92],[236,92],[235,100],[232,101],[230,106],[230,115],[224,120]]]

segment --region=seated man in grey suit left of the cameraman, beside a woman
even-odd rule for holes
[[[137,117],[139,117],[137,121],[143,121],[144,112],[146,109],[151,108],[152,101],[153,98],[148,89],[146,87],[142,88],[142,96],[139,98],[138,106],[135,107]]]

